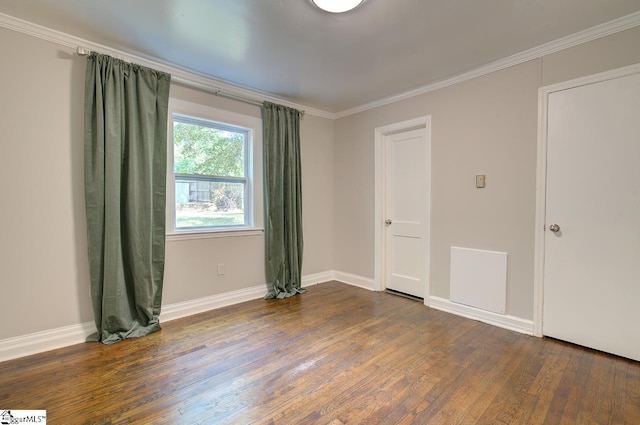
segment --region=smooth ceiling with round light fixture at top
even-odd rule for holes
[[[0,13],[335,113],[640,11],[639,0],[2,0]]]

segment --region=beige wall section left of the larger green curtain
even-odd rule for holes
[[[84,59],[0,28],[0,339],[92,320]]]

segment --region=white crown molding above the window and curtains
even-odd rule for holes
[[[260,101],[266,100],[268,102],[279,103],[281,105],[289,106],[298,110],[304,110],[305,114],[308,115],[313,115],[320,118],[335,119],[335,114],[331,112],[311,108],[309,106],[291,102],[289,100],[275,97],[267,93],[262,93],[257,90],[248,89],[222,80],[217,80],[177,64],[160,62],[156,59],[145,57],[141,54],[125,52],[122,50],[104,46],[102,44],[94,43],[89,40],[66,34],[61,31],[53,30],[51,28],[43,27],[41,25],[34,24],[32,22],[25,21],[23,19],[19,19],[4,13],[0,13],[0,27],[39,38],[41,40],[49,41],[60,46],[67,47],[69,49],[76,50],[76,48],[81,47],[99,53],[108,54],[126,62],[135,62],[139,65],[171,74],[173,77],[177,77],[179,80],[186,80],[190,83],[195,83],[193,84],[194,87],[200,87],[204,90],[232,92],[233,94],[255,98]],[[180,84],[180,82],[178,82],[178,84]]]

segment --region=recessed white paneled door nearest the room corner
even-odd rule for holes
[[[386,288],[425,296],[425,130],[385,137]]]

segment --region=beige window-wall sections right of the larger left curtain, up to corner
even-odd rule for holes
[[[260,117],[260,108],[173,85],[170,96],[214,108]],[[301,121],[303,163],[303,274],[332,269],[333,121],[305,115]],[[260,208],[260,206],[258,206]],[[329,229],[329,231],[327,230]],[[222,294],[265,283],[264,236],[167,242],[164,304]],[[216,265],[225,264],[218,276]],[[265,286],[266,293],[266,286]]]

